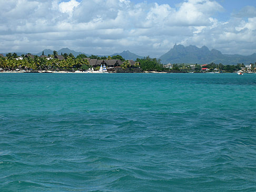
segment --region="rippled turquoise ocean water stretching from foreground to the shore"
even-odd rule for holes
[[[256,191],[256,74],[0,74],[0,191]]]

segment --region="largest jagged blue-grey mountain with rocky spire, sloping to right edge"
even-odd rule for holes
[[[236,65],[238,63],[250,64],[256,62],[256,53],[244,56],[244,55],[227,55],[222,54],[219,50],[209,50],[208,47],[203,46],[198,48],[194,45],[183,46],[174,45],[169,52],[162,55],[161,63],[186,63],[186,64],[210,64],[210,63],[222,63],[223,65]]]

